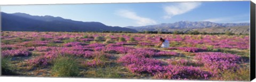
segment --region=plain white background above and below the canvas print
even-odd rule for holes
[[[186,2],[186,1],[228,1],[228,0],[0,0],[0,5],[24,5],[24,4],[76,4],[76,3],[132,3],[132,2]],[[238,1],[238,0],[232,0]],[[255,3],[255,0],[252,0]],[[1,11],[1,10],[0,10]],[[111,81],[111,82],[187,82],[188,80],[143,80],[143,79],[89,79],[89,78],[46,78],[46,77],[0,77],[0,81],[34,81],[34,82],[95,82],[95,81]],[[189,82],[193,80],[189,80]],[[199,81],[199,80],[197,80]],[[256,81],[255,79],[253,81]]]

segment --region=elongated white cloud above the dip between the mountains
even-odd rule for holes
[[[139,26],[156,24],[155,20],[150,19],[150,18],[140,17],[135,12],[132,12],[129,10],[119,10],[119,11],[117,11],[117,14],[120,15],[121,17],[135,20],[135,23],[137,23]]]

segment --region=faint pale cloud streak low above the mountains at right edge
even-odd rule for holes
[[[248,22],[250,20],[244,20],[244,18],[249,17],[249,14],[234,15],[231,17],[221,17],[221,18],[210,18],[203,21],[217,22],[217,23],[240,23]]]

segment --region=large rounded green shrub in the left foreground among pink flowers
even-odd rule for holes
[[[54,60],[52,67],[54,77],[75,77],[78,73],[78,63],[71,56],[59,56]]]

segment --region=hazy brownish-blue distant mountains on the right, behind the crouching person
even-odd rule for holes
[[[235,34],[249,34],[250,23],[214,23],[209,21],[179,21],[175,23],[162,23],[151,26],[141,26],[141,27],[126,27],[130,29],[135,29],[137,31],[193,31],[198,30],[199,32],[217,32],[223,33],[226,31],[231,31]]]

